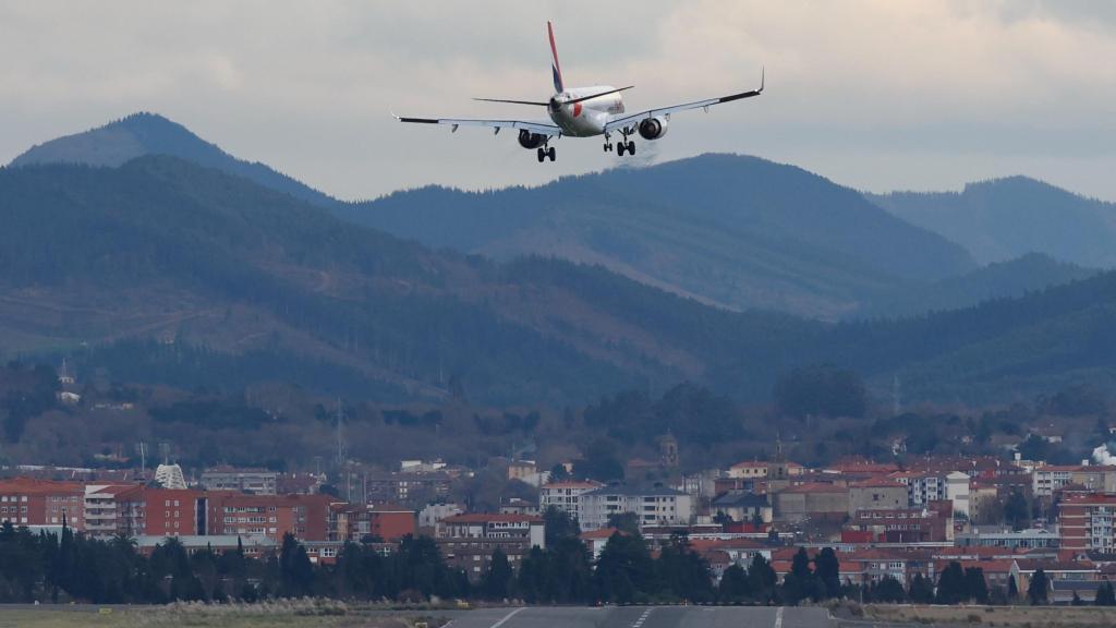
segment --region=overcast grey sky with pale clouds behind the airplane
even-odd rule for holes
[[[706,151],[872,191],[1028,174],[1116,200],[1116,2],[0,0],[0,163],[136,111],[328,193],[492,188],[610,168],[598,139],[537,163],[514,134],[403,125],[523,116],[473,96],[636,85],[628,111],[752,88],[675,115],[641,162]]]

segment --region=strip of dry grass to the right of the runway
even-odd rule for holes
[[[1100,628],[1116,626],[1116,608],[865,606],[864,618],[934,626]]]

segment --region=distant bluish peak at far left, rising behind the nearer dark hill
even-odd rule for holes
[[[185,126],[151,113],[133,114],[105,126],[32,146],[12,160],[11,165],[84,163],[117,166],[143,155],[176,156],[243,177],[320,207],[338,204],[337,200],[296,179],[276,172],[266,164],[237,159]]]

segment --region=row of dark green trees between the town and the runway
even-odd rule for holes
[[[150,555],[124,536],[100,541],[75,534],[35,534],[27,527],[0,526],[0,603],[88,601],[93,603],[166,603],[175,600],[221,603],[268,598],[328,597],[355,600],[420,601],[431,597],[506,600],[528,603],[655,603],[689,601],[720,605],[787,605],[827,599],[876,603],[1012,603],[1014,579],[1007,590],[990,590],[980,568],[950,562],[933,581],[916,574],[904,588],[891,575],[868,583],[843,581],[838,554],[825,548],[812,558],[799,548],[790,571],[779,581],[756,553],[745,569],[733,563],[715,581],[709,562],[684,535],[654,548],[637,531],[617,531],[594,560],[578,537],[577,523],[549,512],[546,549],[533,548],[518,570],[496,550],[482,578],[470,581],[451,567],[430,537],[405,537],[395,551],[346,543],[334,564],[315,564],[306,548],[289,534],[276,552],[254,558],[238,542],[217,552],[187,552],[174,537]],[[1030,579],[1027,599],[1048,603],[1049,577]],[[1083,603],[1075,593],[1075,603]],[[1098,583],[1097,606],[1116,606],[1108,581]]]

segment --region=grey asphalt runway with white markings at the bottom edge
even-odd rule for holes
[[[825,609],[772,607],[528,607],[453,613],[451,628],[830,628]]]

